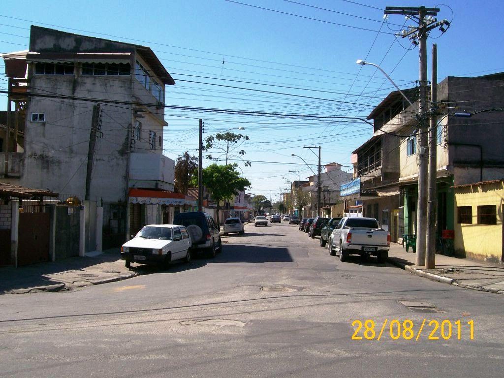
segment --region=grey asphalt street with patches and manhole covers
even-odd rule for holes
[[[502,376],[502,295],[341,263],[296,225],[223,242],[125,281],[0,296],[0,376]]]

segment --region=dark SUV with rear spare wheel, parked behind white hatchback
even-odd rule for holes
[[[222,251],[219,228],[212,216],[199,211],[190,211],[175,215],[173,224],[185,226],[193,242],[192,249],[206,251],[210,257]]]

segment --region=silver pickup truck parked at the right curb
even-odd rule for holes
[[[338,252],[341,261],[360,255],[363,260],[376,256],[383,263],[389,256],[390,233],[374,218],[345,217],[329,236],[328,249],[331,256]]]

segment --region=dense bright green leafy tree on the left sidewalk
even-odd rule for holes
[[[203,185],[217,203],[217,224],[219,227],[220,201],[233,198],[233,196],[251,185],[246,178],[240,177],[240,173],[235,169],[237,166],[236,163],[227,165],[211,164],[202,170]]]

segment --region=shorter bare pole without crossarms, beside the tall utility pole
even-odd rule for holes
[[[429,176],[427,193],[427,236],[425,240],[425,268],[436,265],[436,220],[437,220],[437,45],[432,44],[432,78],[430,80],[430,128],[429,128]]]

